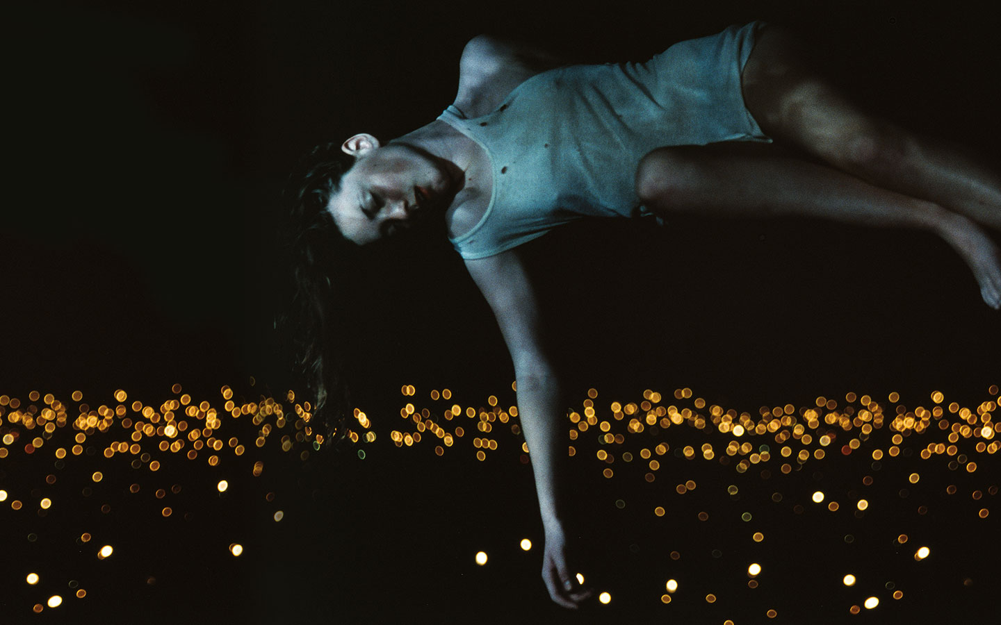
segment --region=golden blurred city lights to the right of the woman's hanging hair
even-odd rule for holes
[[[514,385],[513,390],[517,390]],[[787,404],[763,407],[757,416],[752,416],[747,412],[738,413],[720,406],[707,405],[701,398],[694,398],[692,391],[687,388],[676,390],[674,397],[676,400],[691,400],[690,406],[683,407],[680,404],[663,406],[661,394],[648,390],[644,392],[644,400],[641,402],[626,404],[611,402],[609,406],[611,418],[603,420],[595,402],[598,392],[596,389],[590,389],[589,397],[584,401],[584,409],[568,415],[570,421],[568,437],[571,441],[569,453],[571,456],[577,455],[579,448],[586,444],[588,433],[594,432],[596,435],[592,442],[597,443],[599,449],[593,457],[604,465],[602,474],[606,478],[611,478],[615,474],[608,465],[612,465],[616,460],[615,456],[618,455],[622,462],[630,463],[637,459],[646,462],[649,472],[644,479],[653,482],[665,461],[659,460],[658,457],[668,455],[671,451],[670,445],[667,442],[656,442],[644,446],[639,453],[636,453],[633,445],[629,444],[630,438],[638,439],[638,435],[643,434],[656,438],[668,428],[689,426],[704,431],[706,442],[701,447],[690,445],[675,449],[675,456],[686,460],[700,457],[704,460],[717,460],[722,464],[733,465],[738,473],[745,473],[754,465],[758,465],[758,468],[766,473],[771,473],[766,467],[781,462],[779,471],[781,474],[789,474],[794,467],[801,469],[804,464],[823,460],[831,451],[841,456],[853,454],[861,456],[864,462],[872,462],[874,470],[879,470],[881,461],[900,455],[907,456],[915,449],[918,451],[915,455],[922,460],[944,457],[948,459],[950,470],[974,473],[977,470],[977,462],[972,457],[974,454],[991,455],[1001,449],[1001,442],[994,440],[997,434],[1001,433],[1001,422],[993,420],[993,414],[998,407],[998,388],[992,386],[989,392],[995,397],[973,409],[961,407],[957,403],[943,405],[944,396],[937,391],[931,394],[932,404],[929,407],[918,406],[913,410],[898,403],[900,398],[897,393],[888,396],[890,402],[888,404],[877,402],[868,395],[859,397],[855,393],[848,393],[845,405],[840,408],[838,401],[818,397],[813,406],[796,408]],[[414,396],[415,389],[412,386],[404,386],[403,395]],[[497,449],[500,439],[497,433],[499,429],[500,433],[510,432],[515,437],[515,441],[509,443],[502,439],[500,445],[509,449],[521,447],[522,462],[528,461],[530,450],[524,442],[518,440],[521,431],[517,422],[516,406],[500,408],[497,397],[490,395],[486,401],[487,407],[463,407],[451,403],[451,392],[447,389],[431,391],[430,398],[432,401],[444,400],[450,405],[443,410],[431,410],[418,409],[413,403],[408,402],[400,409],[400,417],[413,427],[410,431],[399,428],[390,433],[390,439],[396,447],[418,444],[423,434],[423,440],[430,438],[435,442],[434,453],[440,456],[444,449],[452,447],[458,439],[467,434],[467,431],[475,428],[478,436],[472,439],[473,447],[477,450],[476,459],[482,461],[486,452]],[[882,437],[889,439],[890,446],[886,449],[872,448],[880,440],[876,438],[879,430],[887,430],[887,434]],[[918,443],[919,438],[924,441]],[[910,445],[905,445],[905,439],[910,439],[908,441]],[[715,445],[718,446],[714,448]],[[905,447],[908,449],[907,453],[903,453]],[[907,476],[910,485],[916,485],[920,481],[921,475],[918,472],[911,472]],[[866,476],[864,483],[872,484],[872,478]],[[694,480],[687,480],[678,484],[674,490],[679,495],[684,495],[696,488]],[[737,494],[737,486],[728,487],[728,492],[732,496]],[[997,492],[997,487],[992,486],[989,490],[994,494]],[[955,493],[955,485],[950,485],[947,492]],[[829,495],[830,493],[822,490],[807,493],[815,504],[822,504],[827,510],[837,512],[843,506],[838,501],[831,500]],[[981,497],[982,491],[974,491],[974,499],[979,500]],[[775,493],[773,500],[781,501],[782,495]],[[624,508],[625,502],[617,500],[616,506]],[[865,497],[855,496],[849,502],[850,509],[859,517],[870,510],[872,502]],[[802,511],[803,506],[797,504],[795,509]],[[919,514],[926,512],[925,506],[919,507]],[[988,513],[987,508],[982,508],[977,516],[986,518]],[[654,514],[658,517],[665,516],[667,509],[665,506],[656,506]],[[699,512],[698,518],[700,521],[707,521],[709,515],[704,511]],[[750,522],[753,517],[750,512],[744,512],[741,518]],[[762,532],[754,532],[752,539],[760,543],[765,537]],[[846,536],[846,542],[853,540],[851,535]],[[906,534],[901,534],[897,539],[900,544],[907,540]],[[530,541],[528,539],[523,541],[526,542]],[[928,547],[920,547],[914,553],[914,559],[921,561],[929,554]],[[484,564],[485,561],[484,552],[476,555],[477,563]],[[748,565],[750,588],[758,587],[759,582],[756,578],[762,574],[762,570],[760,563],[754,562]],[[856,584],[857,579],[854,574],[849,573],[844,575],[842,581],[845,586],[851,587]],[[892,589],[892,584],[888,584],[888,588]],[[677,590],[678,581],[668,580],[661,601],[665,604],[671,603]],[[901,599],[903,592],[895,590],[892,596],[894,599]],[[611,601],[611,596],[607,592],[601,593],[599,597],[602,603]],[[705,595],[707,603],[716,603],[719,599],[715,593]],[[862,609],[873,610],[879,604],[880,598],[873,595],[861,601],[861,605],[851,606],[849,611],[857,614]],[[774,619],[777,618],[778,612],[770,609],[766,616]]]

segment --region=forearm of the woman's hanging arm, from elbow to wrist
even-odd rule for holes
[[[529,445],[543,525],[549,529],[563,517],[565,498],[561,485],[567,483],[568,477],[560,382],[545,366],[520,369],[516,375],[519,418]]]

